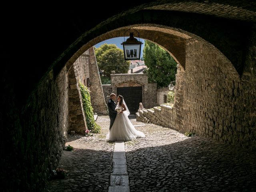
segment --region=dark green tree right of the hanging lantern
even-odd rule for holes
[[[143,58],[147,66],[148,81],[157,84],[158,88],[167,87],[175,81],[177,63],[172,56],[160,46],[145,41]]]

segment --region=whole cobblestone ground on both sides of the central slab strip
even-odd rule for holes
[[[97,118],[101,134],[69,135],[66,145],[75,150],[64,151],[59,162],[68,174],[65,179],[51,180],[45,191],[108,192],[123,186],[130,186],[131,192],[256,191],[254,151],[199,136],[186,137],[154,124],[131,122],[146,137],[124,142],[125,153],[115,151],[118,146],[105,140],[108,116]],[[119,175],[127,177],[113,178]]]

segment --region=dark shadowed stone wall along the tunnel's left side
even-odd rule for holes
[[[12,137],[6,136],[11,145],[1,145],[5,148],[2,156],[6,165],[1,169],[1,180],[9,178],[2,191],[42,191],[57,168],[68,131],[67,87],[66,69],[55,78],[50,70],[28,98],[20,116],[15,116]]]

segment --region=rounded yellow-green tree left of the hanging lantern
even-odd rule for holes
[[[104,70],[104,74],[110,77],[112,71],[116,74],[127,73],[130,62],[124,60],[124,51],[115,44],[102,44],[95,49],[95,56],[99,70]]]

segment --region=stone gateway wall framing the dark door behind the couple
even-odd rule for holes
[[[102,85],[106,102],[108,102],[111,93],[118,93],[118,88],[142,87],[143,106],[145,108],[156,106],[156,84],[148,83],[147,74],[111,74],[110,78],[111,84]],[[125,100],[127,100],[127,98],[125,98]]]

